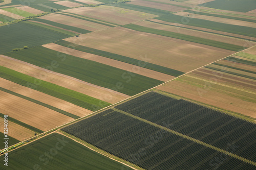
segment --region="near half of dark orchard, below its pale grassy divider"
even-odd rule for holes
[[[112,109],[61,130],[146,169],[186,169],[203,161],[200,169],[209,166],[206,157],[221,154]]]

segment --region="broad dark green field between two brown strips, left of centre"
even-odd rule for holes
[[[145,76],[130,74],[128,71],[116,67],[59,53],[42,46],[6,53],[5,55],[39,67],[47,66],[55,60],[59,63],[58,67],[54,68],[55,72],[110,89],[119,82],[123,85],[119,92],[127,95],[134,95],[163,83]]]

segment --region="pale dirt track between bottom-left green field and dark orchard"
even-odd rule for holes
[[[87,148],[89,148],[90,150],[92,150],[92,151],[94,151],[94,152],[97,152],[97,153],[99,153],[99,154],[101,154],[101,155],[104,155],[104,156],[106,156],[106,157],[108,157],[108,158],[110,158],[110,159],[112,159],[112,160],[115,160],[115,161],[117,161],[117,162],[120,162],[120,163],[122,163],[122,164],[124,164],[124,165],[126,165],[126,166],[129,166],[129,167],[131,167],[131,168],[137,170],[135,167],[130,166],[130,165],[124,163],[124,162],[119,161],[118,159],[120,159],[120,158],[116,157],[115,155],[110,154],[111,156],[108,156],[107,154],[109,154],[109,153],[107,153],[107,152],[105,152],[105,151],[103,151],[103,150],[101,150],[101,149],[95,148],[94,145],[89,144],[89,143],[87,143],[86,141],[83,141],[83,140],[81,140],[81,139],[79,139],[79,138],[77,138],[77,137],[74,137],[74,136],[72,136],[72,135],[70,135],[70,134],[68,134],[68,133],[66,133],[66,132],[63,132],[63,131],[57,131],[56,133],[61,134],[61,135],[63,135],[63,136],[66,136],[66,137],[68,137],[68,138],[74,140],[75,142],[78,142],[78,143],[84,145],[84,147],[87,147]],[[80,141],[79,141],[79,140],[80,140]],[[101,151],[101,152],[99,152],[99,151]],[[114,157],[114,158],[113,158],[113,157]],[[124,161],[125,161],[125,160],[124,160]],[[135,165],[135,164],[134,164],[134,165]],[[143,168],[139,168],[139,169],[143,169]]]

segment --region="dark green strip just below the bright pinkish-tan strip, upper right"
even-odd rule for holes
[[[159,17],[156,17],[155,19],[184,24],[188,26],[202,27],[202,28],[207,28],[211,30],[223,31],[223,32],[228,32],[233,34],[240,34],[240,35],[245,35],[249,37],[256,37],[256,29],[251,27],[230,25],[227,23],[220,23],[220,22],[209,21],[209,20],[198,19],[198,18],[183,17],[179,15],[174,15],[174,14],[159,16]]]

